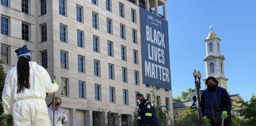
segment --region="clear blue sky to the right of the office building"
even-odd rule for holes
[[[228,92],[250,100],[256,93],[256,1],[168,0],[166,4],[173,96],[195,87],[194,69],[205,79],[203,40],[211,25],[221,38]]]

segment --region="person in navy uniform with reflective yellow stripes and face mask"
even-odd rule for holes
[[[146,100],[141,93],[138,93],[136,98],[139,103],[137,124],[139,126],[160,126],[154,104]]]

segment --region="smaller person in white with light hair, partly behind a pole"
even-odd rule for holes
[[[55,110],[54,110],[54,126],[62,126],[67,124],[67,116],[61,108],[62,100],[58,96],[55,97]],[[53,126],[53,102],[48,105],[48,114]]]

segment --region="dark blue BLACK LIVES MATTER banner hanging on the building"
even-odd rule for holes
[[[168,22],[140,7],[143,84],[171,90]]]

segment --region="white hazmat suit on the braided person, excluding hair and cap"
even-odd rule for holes
[[[4,90],[2,91],[2,105],[6,114],[12,114],[14,125],[51,125],[45,102],[47,93],[58,90],[58,84],[52,84],[51,77],[45,68],[29,61],[30,89],[17,93],[17,65],[8,71]]]

